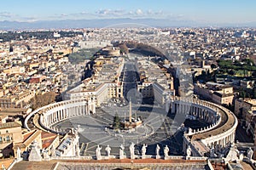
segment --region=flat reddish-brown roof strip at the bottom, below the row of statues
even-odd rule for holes
[[[57,162],[59,162],[57,164]],[[63,167],[65,163],[65,167]],[[113,167],[115,166],[115,167]],[[163,169],[168,169],[170,167],[187,167],[188,169],[195,168],[198,169],[199,167],[203,167],[201,169],[205,169],[204,167],[207,166],[207,161],[199,161],[199,160],[183,160],[183,159],[175,159],[175,160],[162,160],[162,159],[138,159],[138,160],[131,160],[130,159],[110,159],[110,160],[61,160],[61,161],[20,161],[15,164],[15,166],[12,168],[14,170],[21,170],[21,169],[63,169],[63,168],[71,168],[71,169],[77,169],[81,168],[84,169],[84,167],[91,167],[93,169],[94,167],[103,167],[104,169],[114,169],[116,167],[125,168],[125,167],[137,167],[137,168],[145,168],[145,167],[163,167]],[[197,167],[197,168],[196,168]],[[187,169],[185,168],[185,169]],[[99,168],[101,169],[101,168]],[[149,168],[151,169],[151,168]]]

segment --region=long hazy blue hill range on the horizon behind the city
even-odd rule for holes
[[[0,30],[102,28],[102,27],[195,27],[195,26],[247,26],[255,27],[256,22],[244,24],[207,24],[193,20],[168,19],[102,19],[102,20],[39,20],[35,22],[0,21]]]

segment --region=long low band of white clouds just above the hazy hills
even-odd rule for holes
[[[152,9],[134,8],[125,10],[122,8],[101,8],[96,11],[81,11],[77,13],[49,14],[49,15],[18,15],[9,12],[0,12],[0,20],[16,20],[16,21],[36,21],[36,20],[86,20],[86,19],[119,19],[119,18],[152,18],[152,19],[177,19],[182,20],[184,17],[180,15],[172,15],[169,12]]]

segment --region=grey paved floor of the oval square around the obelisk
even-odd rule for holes
[[[95,156],[97,144],[102,146],[102,156],[105,155],[108,144],[112,148],[111,155],[119,156],[119,146],[123,144],[126,156],[130,156],[131,142],[136,144],[136,155],[141,155],[143,144],[148,144],[147,155],[155,154],[156,144],[160,145],[160,155],[163,155],[166,144],[170,148],[170,155],[182,155],[183,132],[176,131],[179,126],[173,123],[171,116],[166,116],[165,110],[159,105],[133,105],[133,116],[136,114],[142,117],[143,126],[134,132],[121,132],[115,135],[113,129],[109,128],[113,123],[113,116],[117,113],[120,119],[124,119],[125,115],[128,116],[128,109],[127,106],[104,107],[97,109],[94,115],[75,117],[57,123],[55,127],[79,127],[81,155],[85,156]]]

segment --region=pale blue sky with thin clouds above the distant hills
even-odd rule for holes
[[[0,21],[170,19],[207,23],[256,21],[255,0],[6,0]]]

